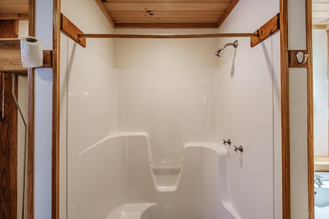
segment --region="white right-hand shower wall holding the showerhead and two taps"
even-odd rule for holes
[[[279,1],[240,1],[218,33],[254,32],[279,13]],[[253,16],[257,14],[257,16]],[[243,21],[242,21],[243,20]],[[227,47],[216,72],[216,143],[227,147],[233,206],[243,218],[282,218],[280,34],[250,48],[250,38],[220,38]],[[262,206],[262,207],[260,207]]]

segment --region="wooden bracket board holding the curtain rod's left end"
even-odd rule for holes
[[[82,47],[86,47],[86,39],[81,38],[78,34],[83,34],[83,32],[74,25],[67,17],[61,13],[61,25],[60,30],[63,31],[67,36],[73,39],[75,42],[80,44]]]

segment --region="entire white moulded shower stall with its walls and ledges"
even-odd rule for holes
[[[240,1],[218,30],[114,30],[94,1],[76,2],[61,12],[85,33],[253,32],[279,12],[279,1]],[[278,33],[254,48],[250,38],[82,48],[61,33],[60,63],[60,218],[282,217]]]

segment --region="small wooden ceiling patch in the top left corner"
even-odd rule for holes
[[[29,0],[0,0],[0,19],[28,20]]]

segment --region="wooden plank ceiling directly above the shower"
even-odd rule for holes
[[[239,0],[95,0],[114,28],[218,28]]]

